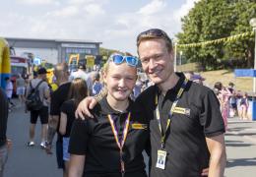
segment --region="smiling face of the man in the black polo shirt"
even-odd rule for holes
[[[142,67],[151,81],[162,84],[173,73],[173,55],[161,38],[142,40],[138,47]]]

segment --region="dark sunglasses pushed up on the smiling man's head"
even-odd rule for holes
[[[161,29],[148,29],[148,30],[141,32],[137,36],[137,44],[144,37],[161,37],[161,38],[165,38],[169,43],[171,43],[171,40],[170,40],[169,36],[167,35],[167,33]]]

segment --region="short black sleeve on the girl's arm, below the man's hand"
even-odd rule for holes
[[[87,152],[89,142],[88,120],[76,119],[70,134],[69,152],[72,154],[84,155]]]

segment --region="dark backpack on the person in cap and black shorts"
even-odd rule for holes
[[[43,106],[43,103],[40,99],[39,95],[39,86],[43,81],[40,81],[35,88],[32,88],[32,82],[30,83],[31,91],[27,96],[26,100],[26,105],[27,109],[32,111],[32,110],[40,110],[41,107]]]

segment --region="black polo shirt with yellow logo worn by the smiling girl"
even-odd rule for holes
[[[96,105],[92,113],[95,119],[77,119],[73,123],[69,152],[86,155],[84,176],[120,177],[120,155],[107,115],[114,119],[119,138],[122,136],[128,111],[131,112],[128,135],[123,148],[125,177],[146,177],[142,151],[149,143],[148,121],[132,101],[127,112],[113,110],[106,96]]]

